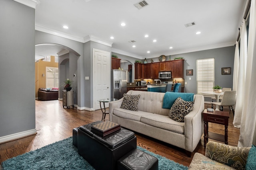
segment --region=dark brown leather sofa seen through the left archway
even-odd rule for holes
[[[59,90],[50,90],[46,88],[38,89],[38,100],[58,100]]]

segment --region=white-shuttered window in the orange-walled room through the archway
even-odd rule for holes
[[[59,86],[59,70],[56,67],[46,67],[46,88]]]

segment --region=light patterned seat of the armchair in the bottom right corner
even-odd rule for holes
[[[188,167],[189,170],[235,170],[230,166],[221,164],[210,158],[207,158],[203,154],[196,152]]]

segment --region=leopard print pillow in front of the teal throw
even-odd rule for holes
[[[194,108],[194,102],[187,102],[181,97],[178,97],[172,105],[169,117],[178,122],[184,122],[185,116]]]

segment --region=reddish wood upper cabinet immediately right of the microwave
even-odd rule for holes
[[[184,60],[171,61],[172,79],[184,78]]]

